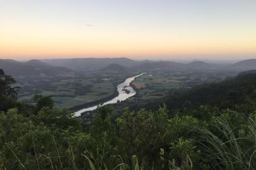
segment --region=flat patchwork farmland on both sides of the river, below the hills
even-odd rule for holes
[[[72,108],[108,98],[115,93],[117,84],[139,73],[93,72],[85,75],[64,74],[58,77],[22,78],[22,81],[19,79],[17,81],[21,86],[18,99],[33,104],[32,98],[35,94],[50,95],[58,108]],[[218,72],[148,72],[132,82],[132,86],[137,91],[134,98],[140,100],[160,98],[172,89],[191,88],[203,82],[220,81],[226,76],[229,75],[223,76]]]

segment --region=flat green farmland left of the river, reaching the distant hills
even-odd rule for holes
[[[126,77],[136,74],[116,75],[94,73],[88,75],[62,75],[59,77],[35,77],[18,81],[21,91],[18,99],[33,104],[33,96],[42,94],[52,96],[57,108],[72,108],[84,103],[91,103],[111,96],[116,85]]]

